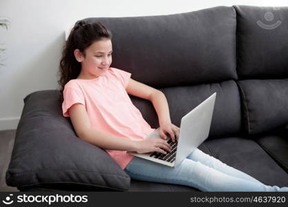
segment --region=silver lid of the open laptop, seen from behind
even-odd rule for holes
[[[207,139],[215,104],[216,92],[181,119],[175,166]]]

